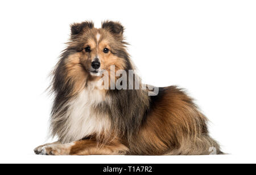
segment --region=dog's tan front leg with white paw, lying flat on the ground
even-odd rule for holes
[[[79,140],[71,143],[56,143],[42,147],[42,155],[124,155],[128,148],[118,140],[107,144],[95,140]]]

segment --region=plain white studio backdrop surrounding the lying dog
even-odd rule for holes
[[[1,1],[0,163],[255,163],[255,1]],[[222,156],[40,156],[49,72],[69,24],[125,27],[144,83],[179,85],[210,119]]]

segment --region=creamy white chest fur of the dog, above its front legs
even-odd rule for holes
[[[67,128],[63,142],[72,142],[92,134],[108,131],[108,116],[94,113],[94,106],[104,101],[97,84],[89,82],[70,103],[66,113]]]

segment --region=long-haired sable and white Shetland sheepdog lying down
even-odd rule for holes
[[[121,23],[112,21],[102,22],[101,28],[88,21],[71,25],[67,48],[52,71],[54,101],[49,130],[58,140],[36,147],[34,152],[222,153],[209,136],[207,118],[183,89],[141,83],[127,53],[123,31]]]

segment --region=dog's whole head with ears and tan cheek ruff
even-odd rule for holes
[[[102,72],[110,75],[110,66],[115,71],[133,69],[123,29],[112,21],[102,22],[101,28],[94,28],[93,22],[71,24],[70,41],[53,72],[53,89],[70,84],[77,92],[87,80],[99,79]]]

